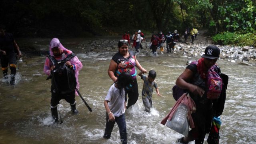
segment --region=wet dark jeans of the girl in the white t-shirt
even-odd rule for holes
[[[122,114],[121,116],[115,116],[115,120],[114,122],[112,122],[112,121],[108,121],[108,113],[106,113],[106,128],[105,128],[105,133],[103,138],[111,137],[111,132],[113,130],[115,123],[117,123],[118,125],[122,144],[127,144],[125,114]]]

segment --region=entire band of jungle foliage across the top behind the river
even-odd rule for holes
[[[22,37],[120,35],[138,29],[150,35],[192,27],[210,35],[256,33],[256,0],[1,0],[0,5],[0,23]],[[214,42],[222,42],[218,37]]]

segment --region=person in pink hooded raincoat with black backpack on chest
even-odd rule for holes
[[[44,64],[44,73],[52,79],[51,86],[51,112],[55,122],[58,122],[57,105],[61,99],[70,103],[71,111],[78,113],[76,109],[75,93],[79,89],[78,74],[83,67],[75,54],[64,48],[58,38],[50,42],[50,55]]]

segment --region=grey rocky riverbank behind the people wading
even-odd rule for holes
[[[204,41],[204,42],[202,42]],[[206,40],[207,41],[207,40]],[[200,57],[204,54],[204,50],[209,45],[214,44],[207,44],[205,40],[195,41],[195,44],[191,44],[188,42],[187,44],[184,42],[178,42],[174,48],[173,53],[166,53],[166,47],[164,45],[164,52],[163,54],[176,54],[185,57]],[[140,54],[150,55],[151,50],[149,49],[150,42],[143,41],[142,47],[140,49]],[[236,62],[238,64],[244,65],[256,65],[256,48],[252,46],[220,46],[216,45],[220,48],[220,59],[225,59],[230,62]],[[88,42],[81,42],[78,46],[80,52],[87,53],[87,52],[116,52],[117,51],[117,40],[91,40]],[[129,47],[130,49],[134,50],[134,48]],[[158,55],[160,55],[160,51],[158,50]]]

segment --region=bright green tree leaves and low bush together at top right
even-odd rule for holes
[[[215,29],[212,37],[216,44],[256,46],[256,1],[216,0],[216,14],[212,15],[210,28]]]

